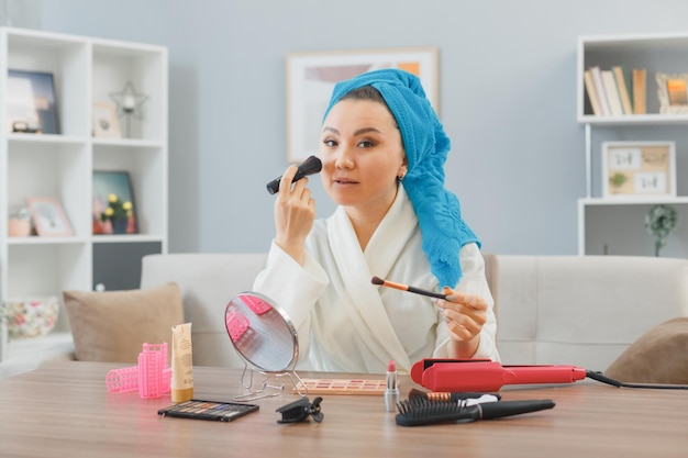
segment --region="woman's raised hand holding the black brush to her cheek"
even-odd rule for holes
[[[306,258],[306,237],[315,221],[315,201],[308,189],[308,177],[292,186],[297,166],[289,166],[279,182],[275,200],[275,243],[300,265]]]

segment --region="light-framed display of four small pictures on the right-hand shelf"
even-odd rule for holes
[[[676,197],[674,142],[602,143],[602,197]]]

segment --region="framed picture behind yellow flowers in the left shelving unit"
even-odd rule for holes
[[[93,170],[92,223],[93,234],[138,233],[129,171]]]

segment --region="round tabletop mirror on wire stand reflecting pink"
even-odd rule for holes
[[[303,383],[293,371],[299,356],[299,342],[296,328],[284,310],[264,294],[241,292],[228,303],[224,324],[234,349],[246,364],[242,383],[251,392],[237,396],[241,398],[237,400],[247,401],[279,394],[284,384],[269,384],[269,375],[289,376],[301,393]],[[247,380],[248,366],[252,371]],[[252,388],[254,371],[266,376],[258,390]]]

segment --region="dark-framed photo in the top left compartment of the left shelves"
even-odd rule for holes
[[[7,131],[59,134],[53,74],[8,70]]]

